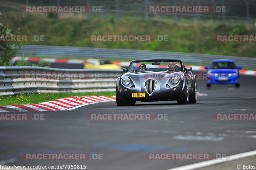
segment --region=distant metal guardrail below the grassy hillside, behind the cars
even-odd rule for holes
[[[23,45],[17,55],[39,57],[76,57],[76,58],[131,58],[131,59],[152,59],[152,58],[179,58],[185,63],[197,63],[209,65],[213,59],[232,59],[236,64],[243,67],[256,67],[256,58],[233,57],[196,53],[164,52],[149,50],[126,50],[126,49],[105,49],[88,47],[66,47],[66,46],[42,46]]]

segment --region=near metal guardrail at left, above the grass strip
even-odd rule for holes
[[[114,91],[122,70],[0,67],[0,96],[20,93]]]

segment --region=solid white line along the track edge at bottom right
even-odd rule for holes
[[[227,158],[217,158],[217,159],[212,159],[212,160],[207,160],[203,162],[198,162],[195,164],[190,164],[190,165],[185,165],[185,166],[180,166],[168,170],[191,170],[191,169],[198,169],[198,168],[203,168],[211,165],[216,165],[224,162],[229,162],[237,159],[242,159],[250,156],[256,155],[256,151],[249,151],[249,152],[244,152],[244,153],[238,153],[236,155],[231,155],[227,156]]]

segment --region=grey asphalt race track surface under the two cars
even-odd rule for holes
[[[205,72],[195,72],[205,73]],[[176,101],[90,104],[71,111],[40,112],[45,120],[1,121],[0,161],[7,165],[86,165],[86,169],[169,169],[203,160],[147,160],[147,153],[233,155],[256,150],[255,120],[213,120],[215,113],[256,113],[256,77],[241,75],[240,88],[197,81],[208,96]],[[33,114],[33,112],[30,112]],[[38,112],[35,112],[38,114]],[[89,113],[168,114],[168,120],[88,120]],[[22,153],[99,153],[103,160],[23,160]],[[234,167],[233,169],[236,169]]]

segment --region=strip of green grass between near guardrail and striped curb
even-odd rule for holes
[[[0,105],[11,104],[39,104],[42,102],[48,102],[50,100],[56,100],[64,97],[72,96],[116,96],[116,92],[98,92],[98,93],[29,93],[20,94],[15,96],[0,96]]]

